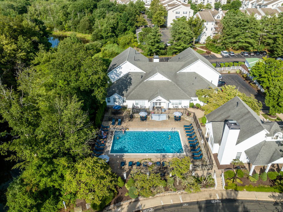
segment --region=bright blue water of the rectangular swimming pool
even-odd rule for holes
[[[183,153],[183,148],[177,131],[115,131],[110,153]]]

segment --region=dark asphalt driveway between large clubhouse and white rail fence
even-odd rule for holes
[[[265,98],[258,92],[256,92],[242,77],[238,74],[222,74],[223,81],[226,85],[235,85],[236,89],[239,87],[239,92],[246,94],[247,96],[254,95],[254,97],[262,103],[262,110],[269,110],[269,107],[265,105]]]

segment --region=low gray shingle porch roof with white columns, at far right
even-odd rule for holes
[[[262,141],[245,151],[252,165],[268,165],[282,158],[283,146],[279,141]]]

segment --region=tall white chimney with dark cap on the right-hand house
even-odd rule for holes
[[[234,150],[240,132],[240,125],[237,121],[227,121],[222,135],[222,140],[218,152],[220,165],[230,164],[235,159]]]

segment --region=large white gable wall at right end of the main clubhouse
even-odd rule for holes
[[[218,85],[218,79],[220,74],[215,69],[212,69],[201,60],[194,62],[193,64],[189,65],[187,68],[184,68],[180,72],[196,72],[209,82],[212,81],[211,87],[217,87]]]

